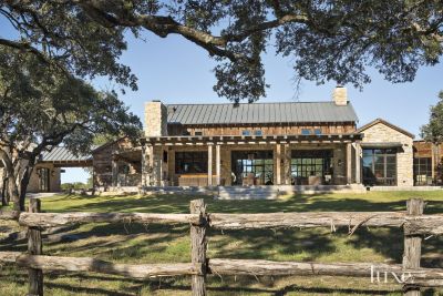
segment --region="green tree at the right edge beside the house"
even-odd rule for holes
[[[439,93],[439,102],[430,109],[430,122],[421,127],[422,137],[431,143],[443,143],[443,91]]]

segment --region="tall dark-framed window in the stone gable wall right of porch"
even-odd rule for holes
[[[363,150],[363,183],[365,185],[396,185],[396,150]]]

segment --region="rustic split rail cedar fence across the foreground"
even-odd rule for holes
[[[443,215],[423,215],[424,202],[420,198],[408,201],[406,212],[308,212],[266,214],[207,213],[204,200],[190,202],[190,214],[153,213],[39,213],[40,200],[31,200],[29,213],[0,212],[2,220],[17,220],[27,226],[28,253],[0,252],[0,263],[16,263],[29,269],[29,295],[43,295],[43,271],[94,272],[120,275],[136,279],[159,276],[192,276],[192,294],[206,295],[206,276],[254,275],[254,276],[357,276],[380,277],[399,275],[404,295],[420,295],[421,287],[443,287],[443,269],[421,268],[421,245],[423,237],[443,234]],[[79,223],[156,223],[190,225],[192,262],[172,264],[114,264],[90,257],[45,256],[42,252],[41,232]],[[404,229],[404,253],[402,264],[381,263],[306,263],[271,262],[262,259],[208,258],[207,231],[251,229],[278,227],[349,227],[349,234],[360,226],[402,227]],[[389,243],[389,242],[387,242]],[[401,275],[401,276],[400,276]]]

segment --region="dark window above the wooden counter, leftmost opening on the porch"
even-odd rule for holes
[[[207,152],[176,152],[176,174],[207,173]]]

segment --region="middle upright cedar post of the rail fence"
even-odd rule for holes
[[[190,257],[194,265],[202,265],[203,275],[192,276],[193,296],[206,296],[206,205],[204,200],[190,201],[190,214],[199,214],[200,225],[190,225]]]

